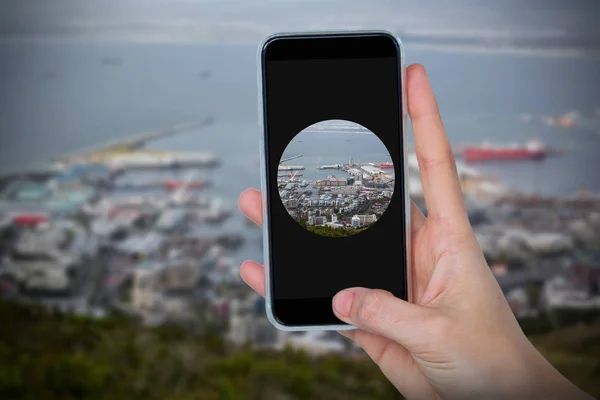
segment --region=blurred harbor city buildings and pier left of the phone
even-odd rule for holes
[[[119,309],[152,324],[172,319],[175,306],[178,318],[188,318],[206,296],[221,302],[213,290],[239,286],[233,256],[244,238],[216,233],[234,211],[230,200],[208,192],[220,160],[147,148],[209,122],[2,176],[0,294],[95,316]]]

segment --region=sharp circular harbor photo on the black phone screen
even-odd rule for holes
[[[321,236],[352,236],[369,229],[387,209],[394,164],[367,128],[327,120],[305,128],[287,145],[277,185],[300,226]]]

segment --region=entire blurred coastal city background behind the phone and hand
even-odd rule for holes
[[[337,333],[272,328],[238,275],[262,259],[236,205],[259,185],[256,45],[377,28],[429,71],[523,330],[600,396],[599,20],[594,0],[1,0],[0,396],[400,398]]]

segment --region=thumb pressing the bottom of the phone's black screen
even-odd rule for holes
[[[394,297],[384,290],[352,288],[333,298],[333,311],[358,329],[384,336],[413,351],[429,336],[434,310]]]

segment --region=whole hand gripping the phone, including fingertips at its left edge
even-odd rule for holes
[[[411,204],[414,304],[391,293],[351,288],[333,309],[354,340],[408,399],[588,398],[527,340],[491,273],[467,217],[450,144],[423,67],[407,71],[408,110],[428,210]],[[262,222],[260,192],[240,208]],[[241,276],[261,295],[264,269]]]

